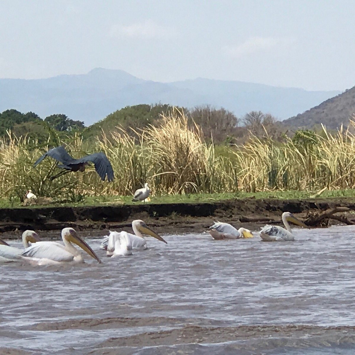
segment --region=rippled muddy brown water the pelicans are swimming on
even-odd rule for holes
[[[88,239],[102,264],[2,264],[0,353],[354,354],[355,228],[295,232],[112,259]]]

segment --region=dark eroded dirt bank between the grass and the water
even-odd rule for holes
[[[133,206],[35,207],[0,209],[0,233],[18,237],[18,231],[60,230],[72,226],[78,230],[122,228],[129,230],[132,220],[143,219],[158,233],[201,232],[214,220],[242,223],[257,230],[266,223],[278,224],[284,211],[304,219],[309,213],[344,206],[355,211],[354,198],[277,200],[246,198],[207,203],[136,204]],[[352,217],[348,213],[349,218]],[[11,233],[12,232],[12,233]],[[58,233],[56,233],[58,234]]]

